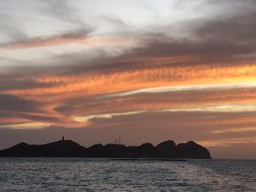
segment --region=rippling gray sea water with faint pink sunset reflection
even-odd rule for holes
[[[256,191],[256,160],[0,158],[0,191]]]

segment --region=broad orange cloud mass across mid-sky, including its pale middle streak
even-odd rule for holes
[[[82,126],[73,118],[136,110],[253,103],[256,102],[255,77],[254,62],[170,65],[120,71],[43,74],[32,80],[45,86],[0,90],[0,94],[40,103],[41,113],[38,115],[47,113],[58,119],[58,122],[51,124]],[[168,89],[161,92],[159,88],[165,89],[165,86]],[[127,91],[134,91],[134,94],[122,95]],[[111,94],[119,95],[111,97]],[[56,108],[62,107],[66,109],[56,111]]]

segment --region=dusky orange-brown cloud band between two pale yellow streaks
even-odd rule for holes
[[[69,99],[55,108],[63,114],[90,115],[134,110],[255,111],[255,89],[189,90],[104,99]]]

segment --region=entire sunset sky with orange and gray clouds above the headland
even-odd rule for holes
[[[0,0],[0,149],[190,140],[256,159],[255,0]]]

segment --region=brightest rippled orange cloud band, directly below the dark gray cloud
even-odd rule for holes
[[[240,65],[193,65],[182,67],[150,67],[126,71],[79,73],[76,75],[42,75],[36,82],[55,84],[29,90],[5,90],[6,94],[34,100],[60,101],[75,96],[96,96],[110,93],[155,88],[160,86],[244,83],[256,81],[254,63]]]

